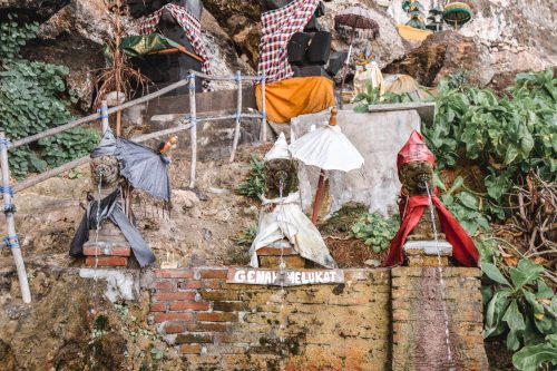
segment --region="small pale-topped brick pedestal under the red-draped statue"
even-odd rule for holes
[[[441,266],[449,266],[452,256],[452,246],[444,240],[407,241],[403,248],[408,266],[439,266],[439,261]]]

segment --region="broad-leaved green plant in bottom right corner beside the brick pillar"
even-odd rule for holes
[[[483,261],[481,270],[494,283],[482,286],[483,338],[506,333],[519,370],[557,365],[557,296],[540,276],[545,269],[522,258],[516,267]]]

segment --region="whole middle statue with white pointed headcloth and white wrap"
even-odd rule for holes
[[[250,265],[257,267],[257,250],[293,247],[300,256],[323,267],[335,269],[325,242],[303,213],[297,172],[284,135],[264,157],[265,191],[257,235],[250,248]]]

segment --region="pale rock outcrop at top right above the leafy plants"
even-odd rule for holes
[[[536,0],[465,1],[472,20],[458,30],[428,38],[421,46],[397,59],[389,71],[402,71],[432,86],[455,70],[471,71],[472,80],[497,85],[525,70],[557,65],[557,4]],[[429,10],[439,1],[424,0]],[[398,1],[387,9],[399,23],[408,17]],[[419,66],[419,67],[418,67]],[[430,67],[428,67],[430,66]]]

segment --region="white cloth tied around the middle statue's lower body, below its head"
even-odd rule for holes
[[[257,250],[271,247],[273,243],[286,238],[302,257],[324,267],[336,267],[323,237],[302,212],[299,192],[282,198],[263,197],[263,206],[270,204],[276,206],[272,212],[265,211],[265,207],[261,211],[258,232],[250,248],[251,266],[258,266]]]

